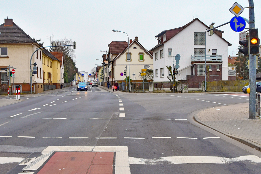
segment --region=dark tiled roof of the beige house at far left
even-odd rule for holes
[[[19,26],[13,22],[13,26],[0,25],[0,43],[37,43]]]

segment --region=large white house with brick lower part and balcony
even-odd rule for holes
[[[214,34],[209,36],[207,29],[208,26],[196,18],[185,26],[164,30],[156,35],[158,44],[151,49],[154,57],[154,82],[169,82],[167,77],[173,72],[169,72],[166,66],[173,67],[176,64],[175,56],[180,54],[176,80],[199,82],[194,85],[195,88],[200,87],[201,82],[205,81],[205,47],[206,81],[233,80],[228,76],[227,59],[228,46],[231,44],[222,38],[223,31],[214,30]]]

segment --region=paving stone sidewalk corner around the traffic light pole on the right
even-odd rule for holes
[[[261,151],[261,118],[248,117],[249,103],[217,106],[194,115],[202,125]]]

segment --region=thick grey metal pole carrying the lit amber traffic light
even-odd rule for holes
[[[255,28],[255,12],[253,0],[248,0],[249,4],[249,28]],[[255,92],[256,92],[256,60],[255,55],[249,54],[249,118],[255,119]]]

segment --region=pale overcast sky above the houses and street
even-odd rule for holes
[[[31,38],[41,38],[44,46],[50,46],[52,35],[52,40],[72,39],[76,42],[78,70],[90,72],[95,64],[101,65],[102,61],[95,59],[102,59],[104,52],[100,50],[108,51],[111,41],[127,42],[125,33],[133,40],[138,36],[139,42],[150,50],[157,45],[154,38],[157,34],[184,26],[194,18],[206,25],[215,22],[214,26],[229,22],[234,17],[229,9],[235,2],[249,6],[248,0],[1,1],[0,24],[6,17],[12,18]],[[260,28],[261,1],[254,0],[254,6],[255,27]],[[240,16],[249,19],[249,9]],[[115,33],[113,29],[125,33]],[[223,38],[232,44],[228,54],[236,56],[239,33],[229,24],[218,29],[224,31]],[[173,51],[174,54],[177,53]]]

